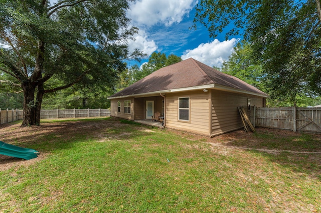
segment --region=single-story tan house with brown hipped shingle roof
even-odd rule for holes
[[[163,67],[108,97],[110,115],[165,117],[164,126],[207,136],[243,127],[238,106],[265,106],[268,95],[193,58]]]

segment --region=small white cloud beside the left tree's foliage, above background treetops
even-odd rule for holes
[[[128,41],[128,47],[130,52],[133,52],[135,48],[137,48],[148,56],[157,49],[155,42],[147,39],[147,35],[144,30],[138,31],[138,34],[135,36],[135,40]]]

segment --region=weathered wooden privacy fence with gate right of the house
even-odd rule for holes
[[[255,117],[255,119],[253,119]],[[254,126],[321,133],[321,107],[253,107]]]

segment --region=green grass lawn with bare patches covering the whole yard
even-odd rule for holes
[[[113,118],[0,125],[0,212],[321,212],[320,134],[207,138]]]

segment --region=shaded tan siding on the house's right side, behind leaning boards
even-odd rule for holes
[[[262,106],[262,97],[212,90],[211,134],[215,135],[242,128],[243,124],[237,107],[247,108],[248,98],[251,99],[251,105]]]

